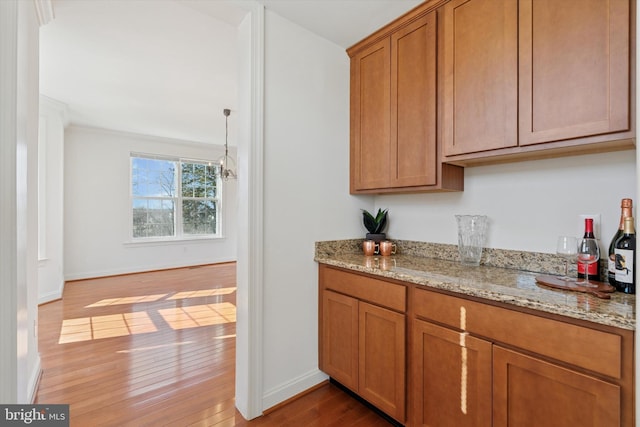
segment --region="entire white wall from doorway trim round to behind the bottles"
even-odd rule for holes
[[[601,214],[608,245],[637,193],[623,151],[467,168],[461,193],[350,196],[346,53],[269,10],[265,34],[264,409],[323,378],[313,242],[363,237],[360,208],[388,207],[393,239],[451,244],[453,215],[482,213],[487,246],[552,253],[582,213]]]

